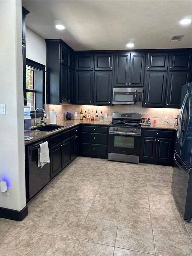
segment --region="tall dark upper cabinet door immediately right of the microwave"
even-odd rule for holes
[[[167,72],[147,72],[143,107],[164,107]]]

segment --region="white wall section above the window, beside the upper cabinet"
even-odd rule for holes
[[[30,15],[30,13],[28,15]],[[26,27],[26,58],[46,65],[45,39],[33,32],[28,27]]]

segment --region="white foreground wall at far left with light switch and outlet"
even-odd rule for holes
[[[21,0],[0,1],[0,180],[9,184],[0,207],[15,210],[26,206],[21,24]]]

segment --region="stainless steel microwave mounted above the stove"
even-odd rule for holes
[[[113,88],[113,104],[142,105],[143,88]]]

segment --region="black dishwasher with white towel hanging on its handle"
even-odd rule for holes
[[[45,139],[25,147],[26,202],[29,202],[50,181],[50,163],[45,164],[43,168],[38,167],[39,144],[45,141],[49,144],[49,139]]]

